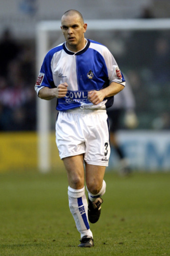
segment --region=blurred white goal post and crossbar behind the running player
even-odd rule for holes
[[[88,30],[123,31],[123,30],[169,30],[170,19],[116,19],[86,20]],[[60,31],[61,21],[41,21],[36,26],[36,75],[38,76],[43,59],[50,49],[49,33]],[[62,33],[61,33],[62,35]],[[64,38],[63,38],[64,39]],[[48,172],[50,163],[50,104],[48,100],[37,97],[37,133],[38,133],[38,168]]]

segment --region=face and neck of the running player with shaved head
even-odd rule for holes
[[[61,19],[61,30],[66,39],[67,48],[70,51],[80,51],[85,46],[84,33],[87,24],[83,24],[78,14],[63,16]]]

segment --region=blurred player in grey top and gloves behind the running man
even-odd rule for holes
[[[114,104],[107,109],[107,115],[110,123],[110,144],[114,147],[120,159],[120,173],[122,175],[128,175],[131,173],[129,159],[122,150],[116,134],[122,128],[121,120],[123,119],[124,126],[127,129],[134,129],[138,125],[138,119],[135,114],[135,98],[127,78],[126,87],[115,95]]]

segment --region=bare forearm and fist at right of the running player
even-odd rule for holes
[[[116,95],[121,90],[123,90],[123,88],[124,86],[122,84],[111,82],[111,84],[106,88],[103,88],[99,91],[93,90],[88,92],[88,99],[94,105],[97,105],[102,102],[104,98]]]

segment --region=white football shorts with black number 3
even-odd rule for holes
[[[59,111],[56,144],[61,159],[84,154],[86,163],[108,166],[110,142],[106,110]]]

